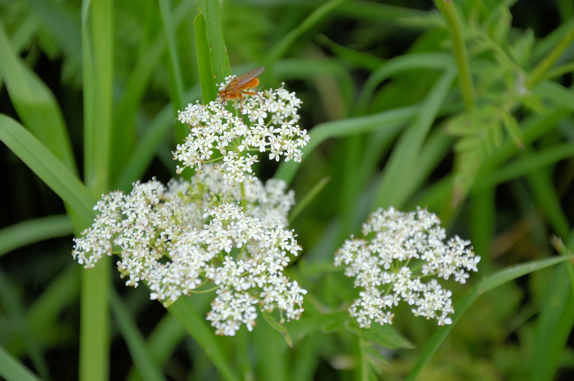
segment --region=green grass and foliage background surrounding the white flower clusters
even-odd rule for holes
[[[0,0],[0,376],[572,379],[573,57],[572,0]],[[100,194],[174,176],[176,111],[257,65],[311,131],[301,165],[258,168],[296,190],[289,275],[310,293],[301,321],[231,339],[209,295],[166,312],[113,260],[73,263],[71,236]],[[448,283],[456,324],[349,322],[332,255],[390,205],[482,256]]]

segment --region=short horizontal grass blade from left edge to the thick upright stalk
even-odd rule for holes
[[[0,230],[0,256],[45,239],[72,234],[72,224],[65,215],[41,217]]]

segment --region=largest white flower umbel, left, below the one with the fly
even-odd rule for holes
[[[207,320],[218,335],[233,336],[241,324],[251,331],[256,306],[298,320],[307,291],[282,274],[301,250],[284,228],[294,204],[285,188],[279,180],[246,184],[245,210],[241,190],[223,184],[211,165],[191,181],[135,182],[127,195],[102,196],[72,254],[88,269],[118,254],[126,285],[145,282],[150,298],[166,306],[181,295],[216,290]]]

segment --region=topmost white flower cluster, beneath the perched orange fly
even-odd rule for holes
[[[177,172],[190,167],[201,173],[205,163],[221,161],[216,171],[224,182],[236,185],[256,178],[251,167],[258,156],[250,152],[268,151],[276,161],[281,156],[301,161],[301,147],[309,141],[307,130],[297,124],[301,100],[283,87],[258,94],[244,100],[241,115],[227,111],[224,102],[198,102],[180,111],[178,119],[189,125],[190,133],[173,153],[182,163]]]

